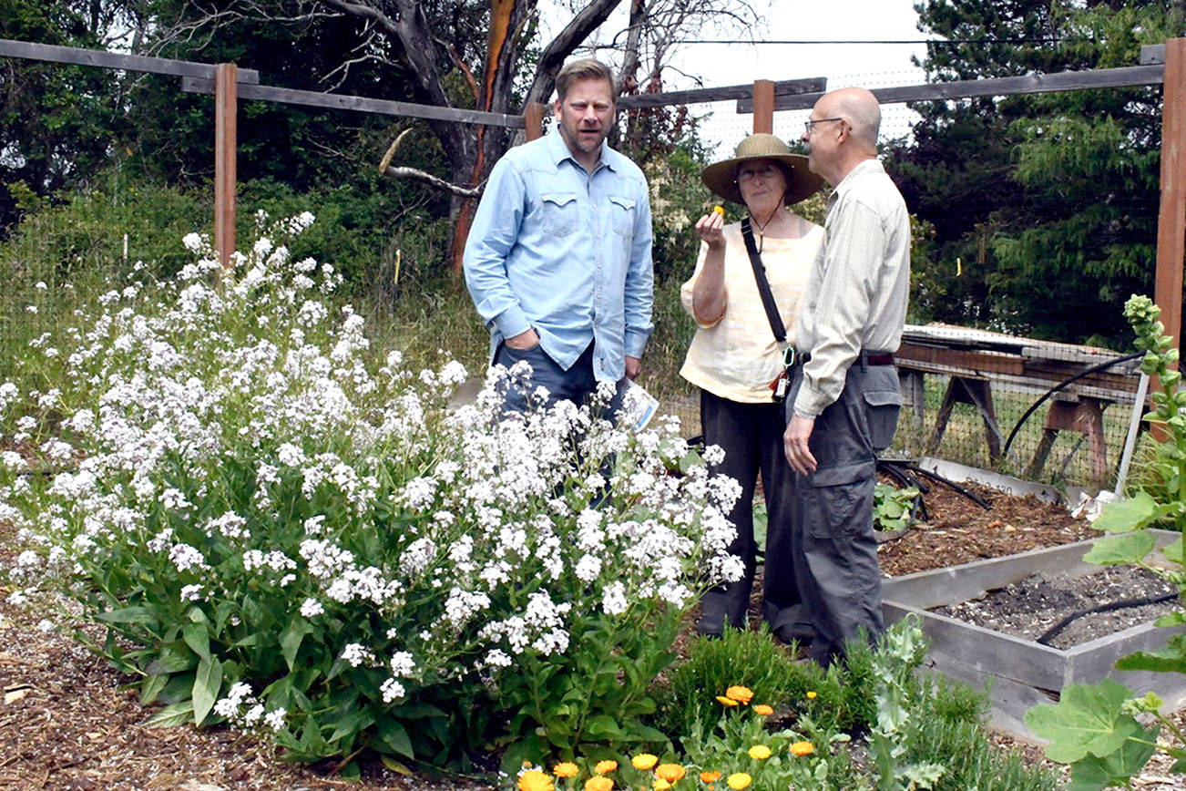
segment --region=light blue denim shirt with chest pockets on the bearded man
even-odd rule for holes
[[[491,356],[529,328],[568,369],[595,342],[593,375],[618,381],[651,334],[651,206],[637,165],[601,146],[588,173],[559,133],[490,173],[465,244],[465,281]]]

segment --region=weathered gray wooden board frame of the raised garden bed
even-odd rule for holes
[[[1178,536],[1163,530],[1152,532],[1159,549]],[[1186,701],[1186,675],[1112,668],[1116,659],[1134,651],[1165,646],[1171,630],[1156,627],[1152,621],[1069,649],[1056,649],[931,612],[971,601],[1034,574],[1082,576],[1098,572],[1098,566],[1083,562],[1093,541],[885,580],[886,620],[893,623],[910,613],[920,618],[932,643],[930,666],[976,687],[989,684],[991,723],[1018,738],[1035,739],[1022,722],[1031,707],[1057,700],[1066,684],[1096,683],[1104,677],[1115,678],[1139,695],[1156,693],[1168,709],[1177,710]]]

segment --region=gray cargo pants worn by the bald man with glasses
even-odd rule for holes
[[[885,631],[873,490],[876,454],[898,427],[901,389],[897,368],[862,361],[848,370],[840,398],[816,417],[809,447],[818,467],[791,473],[795,578],[816,632],[810,656],[824,666],[861,629],[868,639]],[[802,379],[796,368],[788,409]]]

